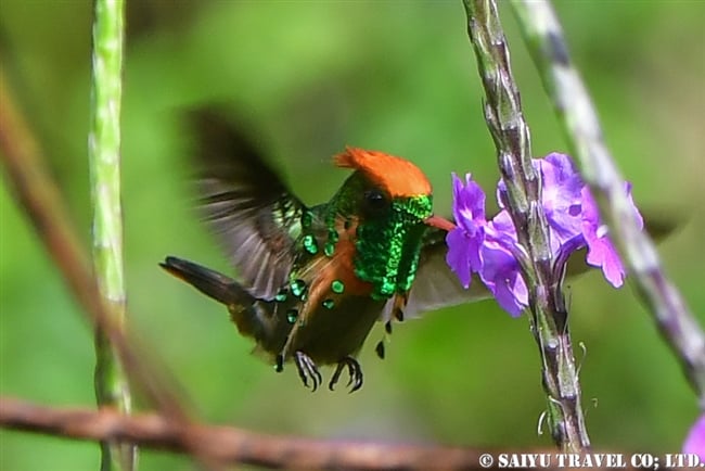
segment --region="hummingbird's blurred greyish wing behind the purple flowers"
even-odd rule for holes
[[[430,310],[491,297],[491,293],[476,276],[473,276],[466,290],[460,284],[456,273],[450,271],[446,263],[448,252],[446,233],[445,230],[437,228],[428,230],[427,240],[419,258],[419,269],[409,291],[409,301],[403,309],[405,319],[419,317]],[[393,302],[394,298],[385,305],[382,314],[383,321],[392,317]]]

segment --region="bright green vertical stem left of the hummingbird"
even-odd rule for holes
[[[117,326],[125,322],[123,215],[120,206],[120,103],[124,1],[95,0],[93,75],[88,158],[93,207],[93,268],[98,288]],[[100,407],[129,413],[130,392],[123,366],[103,329],[95,329],[95,397]],[[101,443],[101,470],[131,471],[137,449]]]

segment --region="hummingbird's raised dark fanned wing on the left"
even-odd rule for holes
[[[270,300],[289,279],[306,207],[223,115],[190,118],[202,209],[249,293]]]

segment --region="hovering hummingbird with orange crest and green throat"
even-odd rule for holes
[[[348,147],[333,163],[351,174],[309,207],[222,112],[190,120],[201,208],[239,278],[175,256],[161,266],[226,305],[277,371],[291,361],[316,391],[319,367],[331,365],[329,389],[347,370],[355,392],[356,356],[375,322],[386,336],[393,321],[489,296],[479,282],[463,289],[446,265],[453,226],[434,215],[432,186],[411,162]],[[384,358],[384,339],[375,351]]]

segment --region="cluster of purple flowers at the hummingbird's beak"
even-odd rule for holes
[[[599,219],[595,201],[571,157],[552,153],[535,160],[534,166],[541,173],[541,204],[549,224],[554,259],[565,263],[569,253],[587,246],[587,263],[601,267],[615,288],[621,285],[624,266],[607,237],[606,226]],[[631,201],[629,183],[626,183],[625,191]],[[528,290],[514,257],[516,230],[503,206],[505,192],[504,182],[500,180],[497,199],[502,211],[487,221],[483,190],[470,175],[465,176],[463,186],[453,174],[453,215],[458,226],[446,239],[446,260],[465,288],[470,285],[472,273],[477,273],[500,306],[512,316],[518,316],[527,306]],[[634,217],[643,226],[633,202],[631,206]]]

